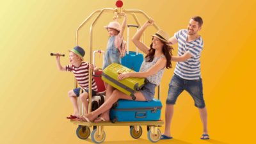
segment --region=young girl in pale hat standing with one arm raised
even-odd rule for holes
[[[124,42],[124,30],[127,23],[127,16],[124,15],[124,21],[122,23],[122,26],[116,21],[109,22],[108,26],[105,26],[109,33],[109,39],[108,39],[108,45],[107,45],[107,51],[105,52],[104,56],[104,63],[103,63],[103,70],[104,68],[108,67],[111,63],[121,63],[121,58],[125,55],[125,42]],[[110,86],[109,84],[105,84],[106,87],[106,97],[107,100],[109,98],[109,95],[113,92],[114,88]],[[102,114],[96,122],[102,121],[102,117],[106,117],[109,115],[109,111],[106,111],[106,113]]]

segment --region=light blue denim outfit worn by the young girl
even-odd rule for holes
[[[110,47],[104,56],[104,63],[102,69],[111,65],[111,63],[121,63],[120,52],[115,47]]]

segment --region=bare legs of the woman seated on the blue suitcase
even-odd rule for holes
[[[134,93],[136,100],[138,101],[145,101],[145,97],[142,95],[141,92],[136,92]],[[104,104],[102,104],[102,106],[100,106],[100,108],[96,109],[95,111],[93,111],[92,113],[88,113],[87,115],[85,115],[91,122],[97,118],[98,115],[100,115],[101,113],[104,113],[105,111],[109,111],[109,109],[111,109],[111,107],[113,106],[113,104],[118,100],[118,99],[127,99],[127,100],[132,100],[132,97],[129,95],[126,95],[122,92],[120,92],[119,90],[114,90],[113,93],[111,94],[111,96],[109,97],[109,99],[107,99]],[[106,118],[107,120],[109,120],[109,115],[108,118]]]

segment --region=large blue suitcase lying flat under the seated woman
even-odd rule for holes
[[[159,120],[162,104],[160,100],[147,101],[118,100],[110,110],[112,122],[134,122]]]

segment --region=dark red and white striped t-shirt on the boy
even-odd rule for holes
[[[75,67],[74,65],[66,65],[66,71],[73,72],[76,79],[77,83],[81,88],[88,90],[89,87],[89,65],[87,62],[82,62],[79,67]],[[95,90],[97,92],[97,85],[92,77],[92,90]]]

